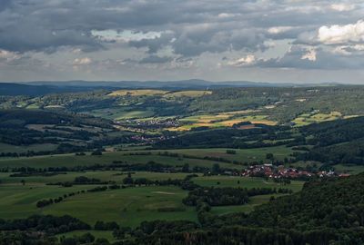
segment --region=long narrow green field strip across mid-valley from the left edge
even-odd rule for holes
[[[199,158],[203,157],[217,157],[236,162],[259,162],[267,161],[266,154],[273,153],[275,159],[283,161],[284,158],[291,154],[292,149],[286,146],[265,147],[255,149],[234,149],[236,154],[227,154],[227,149],[214,148],[214,149],[184,149],[184,150],[168,150],[168,151],[150,151],[151,155],[130,155],[130,153],[137,153],[139,151],[128,152],[104,152],[102,156],[92,156],[86,153],[86,156],[76,156],[75,154],[62,154],[51,156],[34,156],[22,158],[3,158],[0,159],[0,168],[14,168],[14,167],[33,167],[33,168],[48,168],[48,167],[76,167],[76,166],[90,166],[95,164],[110,165],[114,161],[122,161],[128,164],[133,163],[147,163],[150,161],[163,163],[172,166],[182,166],[188,163],[190,168],[195,166],[211,168],[213,164],[218,163],[222,168],[231,168],[241,170],[244,166],[227,163],[217,162],[206,159],[191,159],[184,158],[182,155],[191,155]],[[147,151],[142,151],[147,152]],[[179,157],[170,157],[158,155],[158,152],[176,152],[180,154]]]

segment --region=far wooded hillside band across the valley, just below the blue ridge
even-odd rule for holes
[[[220,88],[200,94],[161,92],[110,96],[110,91],[99,90],[38,97],[2,96],[0,107],[66,109],[112,119],[118,118],[120,112],[139,112],[135,118],[143,118],[252,110],[246,114],[298,125],[364,114],[362,86]],[[107,110],[108,114],[99,110]]]

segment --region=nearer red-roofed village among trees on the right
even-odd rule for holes
[[[338,174],[335,171],[319,171],[318,173],[312,173],[308,171],[297,170],[296,168],[288,168],[285,169],[284,165],[275,166],[271,163],[263,164],[263,165],[251,165],[246,169],[244,172],[241,172],[240,175],[242,176],[254,176],[257,174],[264,174],[269,178],[290,178],[296,179],[300,176],[337,176]],[[347,173],[341,173],[339,176],[349,176]]]

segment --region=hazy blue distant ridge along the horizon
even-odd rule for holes
[[[209,82],[199,79],[180,81],[35,81],[0,83],[0,95],[30,95],[39,96],[47,93],[86,92],[96,89],[167,89],[167,90],[206,90],[228,87],[292,87],[292,86],[324,86],[340,83],[264,83],[248,81]]]

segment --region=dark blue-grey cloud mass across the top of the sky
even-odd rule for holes
[[[186,56],[229,49],[264,50],[267,38],[295,38],[301,29],[315,29],[332,21],[356,16],[330,13],[325,1],[316,8],[299,8],[285,1],[94,1],[18,0],[0,1],[0,48],[10,51],[52,51],[59,46],[81,46],[88,50],[103,44],[91,30],[136,30],[165,32],[130,45],[147,47],[148,53],[170,45],[175,54]],[[302,2],[303,3],[303,2]],[[328,2],[329,3],[329,2]],[[322,7],[320,8],[320,6]],[[309,5],[308,5],[309,6]],[[296,7],[296,8],[295,8]],[[269,34],[272,26],[292,25],[280,34]],[[174,42],[173,39],[176,39]]]

